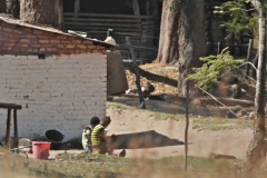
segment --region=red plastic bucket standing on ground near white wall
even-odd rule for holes
[[[33,158],[48,159],[50,145],[48,141],[32,141]]]

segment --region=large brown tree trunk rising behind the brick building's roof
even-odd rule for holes
[[[20,0],[20,19],[62,30],[62,0]]]

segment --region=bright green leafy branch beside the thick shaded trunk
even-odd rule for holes
[[[196,85],[206,91],[212,91],[217,87],[218,78],[225,72],[235,72],[244,60],[234,59],[229,55],[228,48],[225,48],[217,56],[200,58],[204,65],[199,68],[192,68],[192,73],[188,76],[188,80],[192,80]]]

